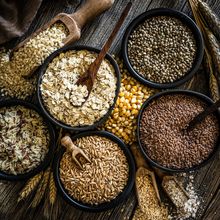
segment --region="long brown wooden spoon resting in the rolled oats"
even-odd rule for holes
[[[98,54],[98,56],[96,57],[95,61],[89,66],[88,70],[86,71],[86,73],[81,76],[78,81],[77,81],[77,85],[81,85],[81,86],[86,86],[87,87],[87,90],[88,90],[88,94],[85,98],[85,101],[88,99],[91,91],[92,91],[92,87],[93,87],[93,84],[94,84],[94,81],[96,79],[96,75],[97,75],[97,72],[99,70],[99,67],[103,61],[103,59],[105,58],[105,55],[107,54],[109,48],[111,47],[112,45],[112,42],[113,40],[115,39],[120,27],[122,26],[125,18],[127,17],[130,9],[131,9],[131,6],[132,6],[132,3],[129,2],[127,4],[127,6],[125,7],[123,13],[121,14],[121,17],[119,18],[114,30],[112,31],[110,37],[108,38],[107,42],[105,43],[105,45],[103,46],[102,50],[100,51],[100,53]],[[81,103],[81,106],[83,105],[83,103]],[[79,106],[77,106],[79,107]]]

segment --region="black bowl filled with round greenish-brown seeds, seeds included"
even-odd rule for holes
[[[128,26],[122,55],[129,72],[145,85],[177,87],[198,70],[204,51],[202,34],[182,12],[157,8],[144,12]]]

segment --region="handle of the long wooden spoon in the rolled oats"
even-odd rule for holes
[[[108,40],[106,41],[105,45],[102,47],[102,50],[100,51],[100,53],[98,54],[97,58],[95,59],[95,61],[90,65],[90,69],[92,69],[92,72],[94,74],[93,77],[96,76],[96,73],[98,72],[98,69],[102,63],[102,60],[104,59],[105,55],[107,54],[109,48],[112,45],[112,42],[114,41],[118,31],[120,30],[125,18],[127,17],[130,9],[131,9],[132,3],[129,2],[127,4],[127,6],[125,7],[123,13],[121,14],[121,17],[119,18],[117,24],[115,25],[114,30],[112,31],[110,37],[108,38]]]

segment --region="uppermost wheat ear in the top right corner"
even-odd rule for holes
[[[209,5],[201,0],[198,0],[198,9],[201,15],[205,18],[207,25],[212,30],[213,34],[220,41],[220,20],[212,11]]]

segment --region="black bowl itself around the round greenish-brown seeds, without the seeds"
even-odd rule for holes
[[[128,40],[129,40],[129,37],[130,37],[131,33],[133,32],[133,30],[138,25],[143,23],[145,20],[152,18],[152,17],[156,17],[156,16],[169,16],[169,17],[175,17],[175,18],[179,19],[180,21],[182,21],[184,24],[186,24],[192,30],[194,37],[195,37],[195,40],[196,40],[197,52],[196,52],[196,57],[195,57],[195,60],[194,60],[194,63],[192,65],[191,69],[183,77],[181,77],[180,79],[178,79],[172,83],[164,83],[164,84],[156,83],[156,82],[150,81],[150,80],[142,77],[133,68],[132,64],[130,63],[129,56],[128,56]],[[190,17],[185,15],[184,13],[173,10],[173,9],[169,9],[169,8],[157,8],[157,9],[146,11],[143,14],[139,15],[137,18],[135,18],[129,24],[129,26],[124,34],[123,40],[122,40],[122,56],[123,56],[123,60],[125,62],[125,65],[127,66],[128,70],[129,70],[129,73],[134,78],[136,78],[138,81],[140,81],[141,83],[148,85],[150,87],[153,87],[153,88],[157,88],[157,89],[174,88],[174,87],[177,87],[177,86],[185,83],[190,78],[192,78],[192,76],[196,73],[196,71],[198,70],[198,68],[202,62],[203,52],[204,52],[204,43],[203,43],[202,34],[201,34],[199,28],[197,27],[197,25],[195,24],[195,22]]]

